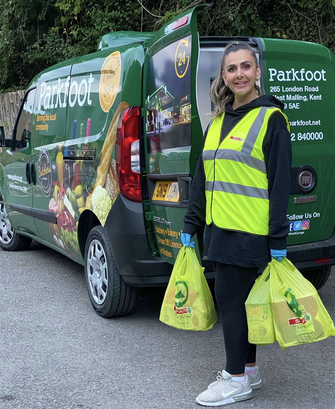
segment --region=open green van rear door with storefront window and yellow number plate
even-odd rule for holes
[[[172,264],[182,246],[190,175],[203,138],[196,101],[197,14],[206,7],[194,7],[157,31],[144,62],[146,216],[153,220],[160,256]]]

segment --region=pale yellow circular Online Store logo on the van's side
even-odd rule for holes
[[[121,78],[121,54],[115,51],[106,58],[101,67],[99,101],[101,109],[108,112],[119,90]]]

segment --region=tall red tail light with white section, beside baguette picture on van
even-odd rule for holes
[[[140,108],[121,112],[116,135],[116,175],[119,191],[133,202],[142,202],[139,158]]]

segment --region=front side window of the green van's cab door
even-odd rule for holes
[[[34,109],[36,88],[29,91],[25,96],[20,117],[16,125],[14,150],[18,151],[22,148],[27,148],[31,139],[31,122]]]

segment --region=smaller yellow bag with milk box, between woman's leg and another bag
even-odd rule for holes
[[[251,344],[267,345],[276,342],[270,300],[270,265],[259,276],[245,301],[248,339]]]

